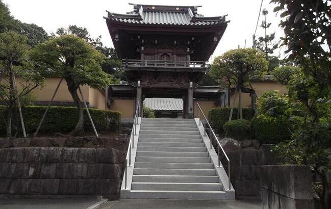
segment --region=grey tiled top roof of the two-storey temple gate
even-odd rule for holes
[[[158,7],[158,6],[156,6]],[[152,10],[146,5],[134,5],[135,11],[127,14],[108,12],[106,19],[133,24],[166,24],[166,25],[215,25],[226,23],[225,16],[203,17],[196,13],[196,7],[183,7],[176,11],[175,6],[160,6],[162,9]],[[165,9],[166,8],[166,9]],[[167,9],[169,8],[169,9]],[[195,8],[192,9],[191,8]]]

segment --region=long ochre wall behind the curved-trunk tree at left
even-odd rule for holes
[[[45,83],[44,83],[43,87],[39,87],[38,89],[34,89],[32,91],[33,96],[35,97],[35,100],[36,101],[50,101],[50,99],[52,99],[54,91],[55,91],[56,87],[58,86],[59,82],[60,82],[60,78],[58,78],[58,77],[51,77],[51,78],[45,79]],[[16,79],[16,83],[17,83],[17,88],[19,88],[19,86],[20,86],[19,78]],[[90,87],[87,85],[84,85],[81,87],[81,89],[82,89],[82,93],[84,95],[85,101],[89,101]],[[79,92],[78,92],[78,95],[80,95]],[[54,101],[73,101],[71,94],[68,91],[67,83],[65,82],[65,80],[62,81],[62,83],[59,87],[59,90],[54,98]]]

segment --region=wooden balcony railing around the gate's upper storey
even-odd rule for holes
[[[189,68],[206,69],[203,61],[172,61],[172,60],[123,60],[125,67],[129,68]]]

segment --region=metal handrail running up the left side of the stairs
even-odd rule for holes
[[[135,135],[137,135],[137,125],[139,125],[138,123],[138,118],[139,118],[139,114],[140,114],[140,102],[138,102],[138,106],[136,108],[136,113],[135,113],[135,117],[133,119],[133,125],[132,125],[132,130],[131,130],[131,135],[130,135],[130,141],[129,141],[129,147],[128,147],[128,151],[126,152],[126,158],[125,158],[125,174],[124,174],[124,189],[126,189],[127,185],[126,185],[126,181],[128,179],[128,167],[131,167],[133,165],[131,165],[131,149],[134,149],[134,137]],[[128,164],[128,160],[129,160],[129,164]]]

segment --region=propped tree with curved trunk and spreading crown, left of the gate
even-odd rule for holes
[[[77,125],[70,135],[82,135],[84,133],[83,107],[77,90],[82,85],[101,89],[111,83],[110,75],[103,72],[100,66],[105,56],[83,38],[62,35],[36,45],[31,57],[44,72],[64,77],[79,113]]]

